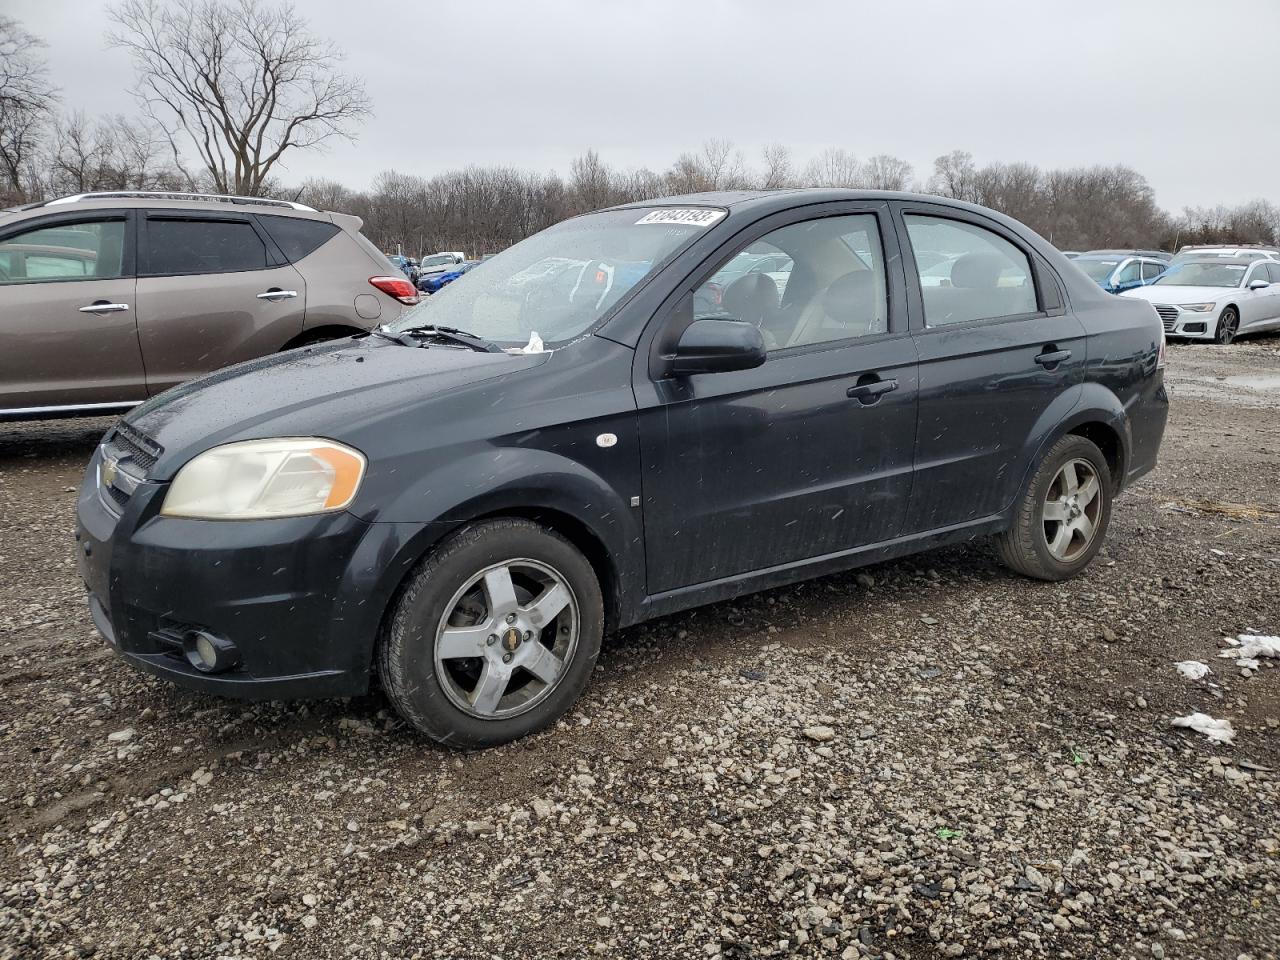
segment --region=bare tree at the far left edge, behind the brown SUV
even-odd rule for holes
[[[0,17],[0,192],[27,195],[32,155],[58,101],[41,49],[45,42],[12,17]]]

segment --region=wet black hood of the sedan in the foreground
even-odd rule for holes
[[[406,347],[375,337],[335,340],[174,387],[124,420],[164,449],[147,475],[166,480],[196,453],[221,443],[268,436],[343,440],[389,413],[539,366],[548,356]]]

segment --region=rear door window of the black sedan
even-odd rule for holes
[[[997,233],[961,220],[906,214],[927,326],[1034,314],[1036,284],[1027,255]],[[942,255],[937,260],[936,255]]]

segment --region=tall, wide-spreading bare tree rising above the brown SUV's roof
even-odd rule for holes
[[[364,83],[334,69],[342,52],[288,3],[124,0],[110,18],[175,160],[184,136],[220,192],[262,192],[287,151],[352,140],[370,114]]]

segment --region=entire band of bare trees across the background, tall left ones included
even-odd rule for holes
[[[0,206],[92,191],[209,191],[298,200],[364,219],[387,251],[495,252],[558,220],[636,200],[722,189],[910,189],[1000,210],[1064,250],[1185,243],[1276,243],[1267,200],[1169,212],[1124,165],[979,165],[952,151],[916,172],[905,160],[829,147],[797,159],[781,143],[754,161],[709,140],[662,170],[611,166],[594,150],[566,173],[467,166],[434,175],[385,170],[365,188],[314,178],[289,184],[282,159],[353,140],[371,113],[342,51],[288,3],[122,0],[109,42],[137,68],[140,111],[92,119],[63,109],[44,42],[0,15]]]

